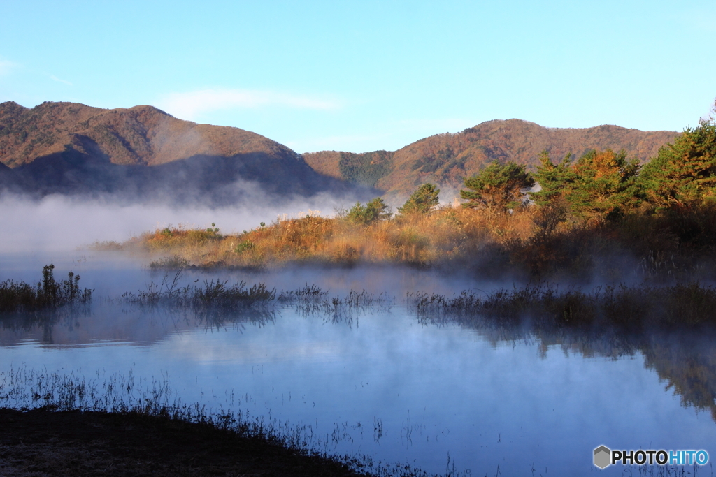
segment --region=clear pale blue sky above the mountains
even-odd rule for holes
[[[152,104],[297,152],[490,119],[680,131],[716,98],[716,2],[0,0],[0,102]]]

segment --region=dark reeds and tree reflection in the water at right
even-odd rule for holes
[[[716,287],[698,283],[579,288],[536,285],[453,297],[415,294],[409,307],[423,323],[455,323],[495,345],[529,340],[541,355],[559,345],[585,357],[642,353],[645,365],[716,421]]]

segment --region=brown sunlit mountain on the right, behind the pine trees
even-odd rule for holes
[[[509,119],[483,122],[457,134],[426,137],[395,152],[324,151],[303,157],[321,174],[377,187],[389,196],[405,197],[425,182],[459,188],[465,177],[494,160],[513,160],[533,169],[545,149],[553,159],[561,159],[568,152],[579,157],[589,149],[625,149],[629,157],[644,162],[676,136],[676,132],[644,132],[618,126],[547,128]]]

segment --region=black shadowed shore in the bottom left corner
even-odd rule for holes
[[[359,476],[208,424],[138,413],[0,409],[2,476]]]

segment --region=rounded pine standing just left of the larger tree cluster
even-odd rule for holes
[[[495,161],[473,177],[465,179],[460,197],[470,202],[463,207],[480,207],[490,213],[506,212],[521,203],[522,190],[534,185],[532,175],[525,166],[513,161],[500,164]]]

